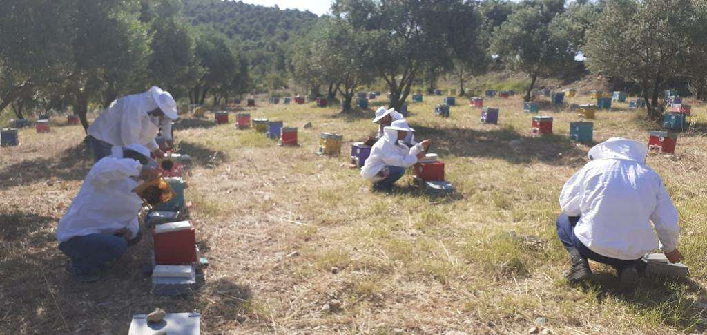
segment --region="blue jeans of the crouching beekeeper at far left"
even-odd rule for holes
[[[71,258],[79,274],[91,274],[103,264],[119,259],[128,249],[128,242],[120,236],[90,234],[74,236],[59,243],[59,250]]]

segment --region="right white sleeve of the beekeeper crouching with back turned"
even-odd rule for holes
[[[677,247],[677,237],[680,233],[680,227],[677,225],[679,217],[662,180],[658,182],[658,192],[655,194],[655,209],[653,214],[650,215],[650,221],[653,221],[655,232],[658,233],[660,249],[663,252],[672,252]]]

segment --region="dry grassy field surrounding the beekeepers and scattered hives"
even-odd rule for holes
[[[371,110],[265,102],[247,110],[299,127],[296,148],[236,130],[235,114],[221,126],[213,114],[185,117],[175,136],[194,158],[187,201],[210,261],[204,286],[185,298],[149,293],[141,274],[148,239],[103,281],[66,274],[54,231],[90,168],[83,129],[64,118],[50,134],[25,129],[21,146],[0,148],[0,333],[126,334],[134,313],[154,307],[201,312],[205,334],[520,334],[538,318],[554,334],[703,331],[696,302],[707,300],[707,107],[692,103],[693,129],[680,135],[676,155],[648,158],[679,208],[691,276],[645,278],[622,293],[611,269],[597,264],[595,285],[563,281],[558,196],[590,146],[569,141],[568,123],[578,117],[547,100],[540,114],[554,117],[554,135],[532,137],[520,99],[484,102],[501,109],[498,125],[479,124],[479,110],[460,98],[448,119],[433,116],[441,97],[410,104],[416,138],[433,141],[456,189],[445,198],[409,187],[409,174],[395,192],[373,193],[346,167],[349,144],[375,131]],[[595,141],[647,143],[655,125],[627,108],[597,112]],[[315,154],[324,131],[344,135],[342,155]],[[340,310],[322,308],[332,299]]]

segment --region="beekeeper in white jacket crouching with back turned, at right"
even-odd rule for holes
[[[570,253],[570,283],[591,278],[592,259],[617,269],[624,288],[635,286],[638,269],[645,269],[641,257],[659,247],[655,235],[670,262],[682,260],[677,209],[660,176],[645,165],[647,153],[644,143],[608,139],[589,151],[591,161],[562,188],[557,235]]]

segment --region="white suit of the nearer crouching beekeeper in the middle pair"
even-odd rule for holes
[[[407,127],[407,122],[404,122],[404,120],[402,122]],[[383,129],[383,137],[378,139],[373,144],[373,147],[370,148],[370,155],[366,158],[366,164],[361,168],[361,176],[364,179],[371,182],[377,182],[382,179],[382,177],[377,175],[386,165],[407,168],[417,163],[417,154],[424,151],[424,149],[420,143],[417,143],[412,148],[400,143],[397,139],[398,130],[406,130],[411,133],[412,129],[409,127],[407,129],[399,129],[395,127],[397,123],[399,122],[394,122],[391,127],[385,127]]]

